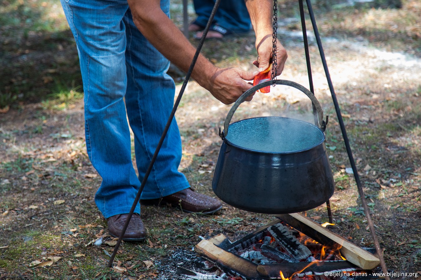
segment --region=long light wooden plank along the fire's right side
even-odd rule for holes
[[[274,215],[274,217],[286,222],[291,227],[301,231],[306,236],[313,238],[315,241],[323,245],[341,245],[342,247],[339,249],[341,255],[349,262],[352,262],[364,270],[373,269],[380,264],[380,260],[373,254],[361,249],[338,234],[323,228],[317,222],[313,222],[299,213]]]

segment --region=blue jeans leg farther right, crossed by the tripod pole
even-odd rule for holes
[[[169,15],[169,1],[161,1]],[[130,9],[123,18],[126,25],[127,115],[135,135],[136,164],[142,181],[174,104],[175,84],[166,74],[169,61],[150,44],[133,24]],[[175,118],[165,137],[142,199],[167,196],[189,187],[178,171],[181,137]]]

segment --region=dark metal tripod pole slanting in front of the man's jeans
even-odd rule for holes
[[[215,5],[213,6],[213,10],[210,13],[210,17],[209,17],[208,23],[206,24],[205,30],[203,31],[202,38],[200,39],[199,45],[197,46],[197,50],[196,50],[195,56],[193,57],[192,63],[190,64],[189,70],[187,71],[186,78],[184,79],[183,85],[181,86],[181,89],[180,89],[180,93],[179,93],[179,95],[178,95],[178,97],[176,99],[176,102],[174,102],[173,110],[171,111],[170,117],[168,118],[167,124],[166,124],[166,126],[164,128],[164,131],[163,131],[162,135],[161,135],[161,139],[158,142],[157,148],[155,149],[155,153],[154,153],[154,155],[152,157],[151,162],[149,163],[149,167],[146,170],[145,176],[143,177],[143,180],[142,180],[142,183],[140,185],[139,191],[137,192],[136,198],[133,201],[133,205],[132,205],[132,207],[130,209],[130,212],[128,213],[127,220],[126,220],[126,222],[125,222],[125,224],[123,226],[123,229],[121,231],[120,236],[118,237],[117,244],[115,245],[114,251],[112,252],[112,255],[111,255],[111,257],[110,257],[110,259],[108,261],[108,267],[112,267],[112,262],[114,261],[114,258],[115,258],[116,254],[117,254],[117,251],[118,251],[118,248],[120,247],[121,241],[123,240],[123,236],[124,236],[124,233],[127,230],[127,227],[129,225],[130,219],[133,216],[134,209],[136,208],[136,205],[139,203],[140,196],[141,196],[142,191],[143,191],[143,189],[144,189],[144,187],[146,185],[146,181],[148,180],[149,174],[152,171],[152,167],[153,167],[153,165],[155,163],[155,160],[156,160],[156,158],[158,156],[158,153],[159,153],[159,151],[160,151],[160,149],[162,147],[162,144],[164,142],[165,136],[167,135],[168,129],[170,128],[171,122],[173,121],[174,115],[176,114],[176,110],[179,107],[179,104],[180,104],[180,101],[181,101],[181,97],[183,97],[184,90],[186,89],[187,83],[189,82],[190,76],[191,76],[191,74],[193,72],[193,68],[195,67],[197,58],[199,57],[200,50],[202,50],[203,43],[205,42],[206,34],[208,34],[208,31],[209,31],[209,28],[210,28],[210,24],[213,21],[213,17],[215,16],[216,10],[218,9],[218,6],[219,6],[219,3],[220,2],[221,2],[221,0],[216,0]]]

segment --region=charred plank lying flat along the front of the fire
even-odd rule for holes
[[[353,271],[358,267],[348,261],[327,261],[327,262],[290,262],[283,264],[260,264],[257,266],[257,272],[262,277],[279,277],[280,271],[285,278],[294,273],[305,272],[328,272],[328,271]]]

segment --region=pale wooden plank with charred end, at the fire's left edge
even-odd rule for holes
[[[233,270],[244,277],[251,279],[261,279],[261,276],[257,272],[257,264],[250,262],[236,254],[227,252],[212,242],[209,242],[208,240],[203,239],[200,241],[196,245],[196,249],[206,258],[221,265],[224,268]]]

